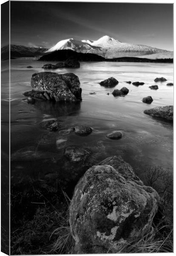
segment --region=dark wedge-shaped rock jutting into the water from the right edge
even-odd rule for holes
[[[144,113],[173,121],[173,106],[155,107],[145,110]]]

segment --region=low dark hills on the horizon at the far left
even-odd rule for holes
[[[23,45],[10,45],[10,57],[22,58],[22,57],[37,57],[45,54],[47,48],[42,47],[26,47]],[[1,60],[6,60],[9,58],[9,45],[1,48]]]

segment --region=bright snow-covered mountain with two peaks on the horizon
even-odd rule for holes
[[[128,44],[111,38],[108,35],[99,38],[97,41],[91,40],[74,40],[69,38],[58,42],[54,47],[46,52],[53,52],[61,49],[71,49],[75,52],[82,53],[94,53],[101,55],[105,58],[119,58],[119,57],[137,57],[141,56],[145,58],[145,55],[150,55],[150,58],[158,58],[158,55],[162,55],[163,58],[171,58],[173,52],[153,48],[150,46],[140,44]],[[172,57],[173,58],[173,57]]]

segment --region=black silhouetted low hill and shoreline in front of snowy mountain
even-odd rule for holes
[[[65,61],[68,58],[74,58],[78,61],[127,61],[127,62],[155,62],[155,63],[173,63],[173,58],[165,59],[149,59],[138,57],[122,57],[122,58],[104,58],[92,53],[81,53],[72,50],[58,50],[55,52],[43,55],[39,61]]]

